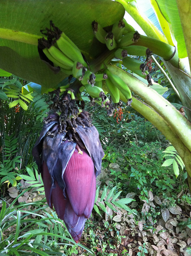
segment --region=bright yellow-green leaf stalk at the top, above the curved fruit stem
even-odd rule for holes
[[[140,13],[136,5],[133,2],[126,0],[115,0],[116,2],[123,5],[126,12],[139,24],[147,36],[158,39],[162,42],[168,43],[166,37],[156,28],[153,23],[144,15]]]

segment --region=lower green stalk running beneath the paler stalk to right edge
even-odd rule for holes
[[[149,120],[154,126],[160,130],[164,136],[172,143],[174,148],[176,148],[180,157],[182,158],[188,177],[191,177],[191,152],[188,148],[182,143],[179,136],[173,131],[172,127],[164,120],[162,116],[160,116],[153,108],[151,108],[148,104],[143,102],[142,100],[132,97],[133,102],[131,103],[132,108],[138,111],[142,116],[144,116],[147,120]],[[189,182],[189,188],[191,191],[191,182]]]

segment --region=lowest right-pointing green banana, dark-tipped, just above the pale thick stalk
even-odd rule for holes
[[[148,72],[145,70],[145,72],[142,73],[142,70],[140,70],[140,66],[144,64],[144,62],[136,60],[134,58],[131,58],[129,56],[127,56],[126,58],[123,59],[123,65],[128,68],[129,70],[131,70],[132,72],[134,72],[135,74],[137,74],[138,76],[141,76],[143,78],[145,78],[145,74],[148,74]]]

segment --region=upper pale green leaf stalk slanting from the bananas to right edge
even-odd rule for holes
[[[169,101],[125,70],[113,65],[108,65],[107,68],[111,73],[119,76],[131,91],[154,108],[191,151],[191,123]]]

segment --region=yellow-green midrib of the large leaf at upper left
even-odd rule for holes
[[[12,29],[0,28],[0,38],[18,41],[26,44],[38,45],[38,38],[40,36],[28,34],[21,31],[14,31]]]

